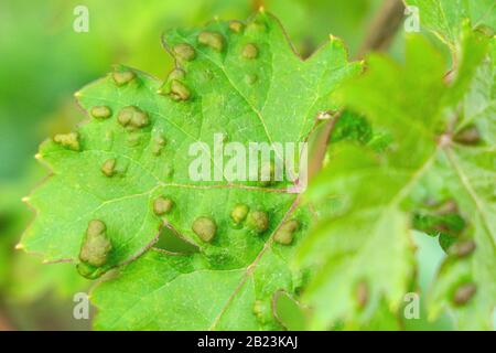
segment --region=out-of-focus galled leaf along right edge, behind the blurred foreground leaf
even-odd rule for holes
[[[453,196],[468,223],[466,234],[450,249],[438,274],[429,301],[430,314],[436,318],[450,308],[463,330],[490,330],[496,306],[494,49],[493,40],[489,57],[478,67],[463,100],[461,124],[476,126],[481,142],[470,149],[453,146],[432,171],[435,175],[429,176],[430,188]],[[471,242],[474,245],[467,247]]]

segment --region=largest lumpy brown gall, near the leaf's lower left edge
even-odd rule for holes
[[[99,220],[93,220],[86,229],[79,259],[90,266],[101,267],[107,264],[107,257],[112,245],[106,235],[106,225]]]

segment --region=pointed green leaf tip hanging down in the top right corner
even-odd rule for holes
[[[436,34],[452,51],[460,39],[463,20],[468,19],[474,28],[492,28],[496,23],[493,0],[406,0],[406,3],[419,8],[421,25]]]

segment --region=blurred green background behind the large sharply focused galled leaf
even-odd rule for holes
[[[302,56],[330,33],[354,57],[380,0],[3,0],[0,2],[0,330],[89,329],[73,319],[73,296],[88,290],[71,264],[41,265],[14,250],[33,213],[21,202],[47,170],[33,156],[40,142],[73,129],[84,118],[73,93],[122,63],[165,77],[172,61],[161,33],[218,17],[246,19],[260,6],[274,13]],[[89,31],[73,30],[74,9],[86,6]],[[399,31],[402,32],[402,31]],[[401,36],[389,51],[401,55]],[[442,254],[421,246],[421,286]],[[425,250],[423,250],[425,249]],[[407,329],[449,329],[444,319]]]

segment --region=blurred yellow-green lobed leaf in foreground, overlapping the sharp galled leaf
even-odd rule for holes
[[[332,146],[327,165],[311,184],[308,200],[334,200],[334,210],[303,240],[298,257],[301,266],[319,269],[303,293],[304,301],[314,308],[311,328],[327,329],[336,322],[356,327],[374,321],[382,299],[393,312],[402,303],[414,272],[412,215],[420,202],[439,197],[419,194],[418,185],[445,156],[471,163],[474,157],[467,153],[472,145],[459,142],[454,147],[466,126],[464,121],[481,126],[494,121],[490,109],[484,109],[484,117],[461,116],[461,93],[470,92],[477,81],[474,76],[488,49],[486,36],[468,29],[464,35],[464,61],[452,83],[443,79],[442,56],[421,36],[412,36],[407,42],[405,65],[371,55],[367,72],[342,90],[346,107],[365,115],[374,129],[390,132],[392,142],[384,154],[351,143]],[[490,154],[494,145],[485,149]],[[460,207],[470,222],[470,214],[484,220],[477,223],[477,232],[484,233],[485,239],[475,240],[477,248],[493,252],[488,255],[492,259],[484,264],[479,259],[481,267],[474,271],[479,272],[485,287],[478,314],[489,317],[495,298],[494,292],[490,296],[494,278],[488,276],[492,270],[494,274],[494,159],[481,157],[477,169],[467,170],[477,175],[473,182],[485,196],[477,196],[475,186],[468,189],[466,193],[475,195],[467,208],[472,211],[465,214],[467,210]],[[446,165],[449,172],[457,169]],[[464,186],[470,185],[466,179],[461,176]]]

